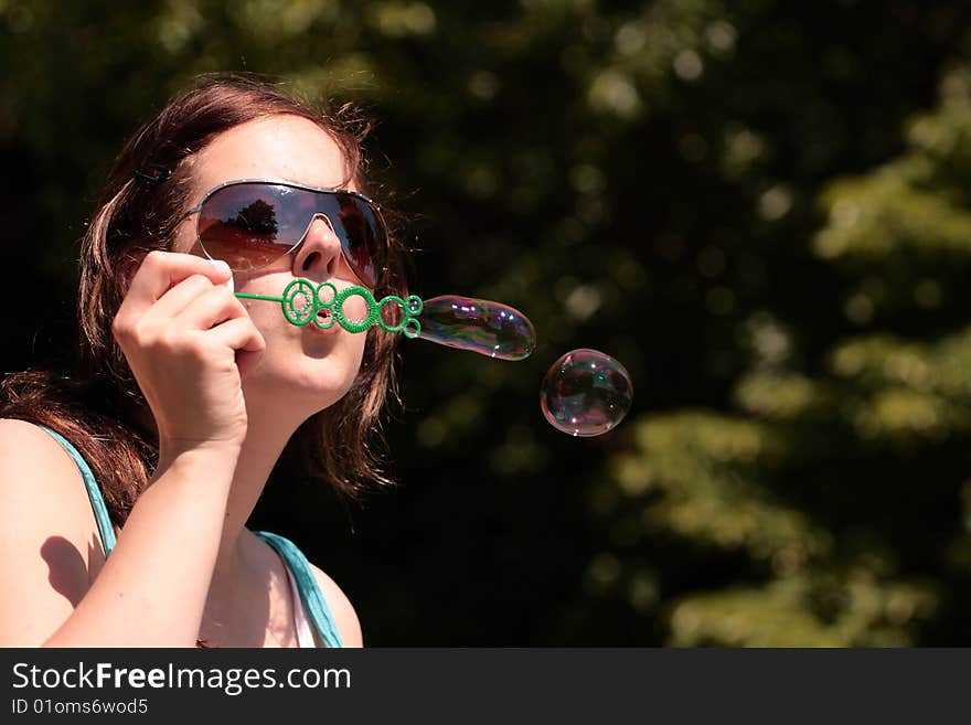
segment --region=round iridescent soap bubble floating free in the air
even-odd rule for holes
[[[633,385],[619,362],[598,350],[570,350],[543,379],[540,407],[557,430],[599,436],[630,409]]]

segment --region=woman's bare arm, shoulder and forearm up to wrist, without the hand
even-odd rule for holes
[[[88,588],[100,542],[74,461],[0,420],[0,644],[194,646],[237,455],[200,447],[161,466]]]

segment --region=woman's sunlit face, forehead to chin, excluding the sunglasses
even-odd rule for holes
[[[270,116],[232,128],[200,151],[191,164],[191,205],[213,186],[237,179],[339,188],[348,178],[346,161],[334,140],[299,116]],[[354,190],[353,185],[344,188]],[[203,255],[195,230],[192,215],[177,230],[173,249]],[[236,291],[279,297],[296,277],[314,284],[330,281],[339,291],[361,284],[341,253],[340,241],[320,217],[313,220],[294,252],[257,271],[234,273],[234,284]],[[277,302],[241,301],[266,340],[266,350],[247,365],[244,392],[248,402],[286,402],[309,417],[350,390],[361,366],[366,333],[352,334],[339,324],[327,332],[312,323],[296,327],[287,322]],[[353,319],[365,317],[364,300],[350,297],[345,312]]]

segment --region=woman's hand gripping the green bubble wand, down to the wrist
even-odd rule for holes
[[[163,456],[246,437],[237,353],[266,343],[223,286],[231,275],[202,257],[150,252],[115,316],[111,330],[154,415]]]

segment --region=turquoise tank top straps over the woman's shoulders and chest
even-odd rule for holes
[[[108,509],[105,505],[105,499],[102,497],[102,490],[98,488],[97,481],[95,481],[95,476],[92,472],[90,467],[77,449],[72,446],[64,436],[56,430],[51,430],[51,428],[47,428],[46,426],[40,427],[51,434],[51,436],[64,447],[77,465],[77,469],[81,471],[81,477],[84,479],[84,486],[87,488],[87,495],[90,500],[92,509],[94,510],[95,521],[97,522],[98,531],[102,534],[102,546],[105,550],[105,558],[107,558],[108,554],[111,553],[111,550],[115,548],[115,529],[111,525],[111,520],[108,516]],[[287,568],[290,571],[291,576],[297,583],[297,589],[300,591],[300,600],[303,603],[303,608],[307,610],[321,641],[327,647],[343,647],[341,636],[338,632],[333,617],[330,614],[330,608],[327,606],[327,600],[320,591],[317,578],[313,576],[313,572],[310,571],[310,563],[307,561],[307,557],[303,556],[303,553],[297,548],[294,542],[284,539],[282,536],[278,536],[277,534],[271,534],[268,531],[254,531],[253,533],[273,546],[282,557]]]

